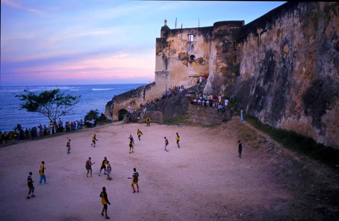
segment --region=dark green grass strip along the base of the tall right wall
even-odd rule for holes
[[[269,135],[284,147],[305,154],[311,158],[336,167],[339,165],[339,150],[330,146],[325,146],[315,142],[312,138],[303,136],[291,130],[274,128],[267,124],[262,124],[258,118],[246,115],[246,120],[255,128]],[[338,169],[338,167],[336,167]]]

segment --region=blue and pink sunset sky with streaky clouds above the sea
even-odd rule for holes
[[[152,82],[164,19],[247,24],[283,3],[1,0],[0,86]]]

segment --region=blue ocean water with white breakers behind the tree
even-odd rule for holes
[[[69,95],[81,95],[80,102],[74,106],[74,113],[62,116],[62,122],[84,119],[90,110],[98,109],[105,112],[105,105],[114,95],[122,94],[145,84],[95,84],[95,85],[58,85],[58,86],[27,86],[0,87],[0,130],[12,130],[17,124],[23,128],[31,128],[39,124],[48,125],[46,116],[39,113],[19,110],[21,101],[15,95],[24,93],[25,89],[39,94],[45,90],[59,88]]]

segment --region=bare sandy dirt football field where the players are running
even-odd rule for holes
[[[143,132],[138,141],[137,129]],[[176,147],[175,133],[181,148]],[[90,145],[93,133],[99,140]],[[128,136],[135,140],[128,153]],[[169,152],[164,151],[164,136]],[[71,139],[71,154],[66,142]],[[243,156],[238,158],[237,141]],[[86,177],[88,157],[95,164]],[[107,157],[112,180],[98,176]],[[47,184],[38,185],[45,161]],[[116,124],[0,148],[0,220],[338,220],[339,173],[282,148],[238,118],[219,126]],[[132,193],[133,168],[139,193]],[[35,198],[26,199],[32,172]]]

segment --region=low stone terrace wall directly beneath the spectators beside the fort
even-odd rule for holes
[[[200,107],[190,104],[188,107],[189,121],[204,125],[217,125],[231,119],[231,110],[218,113],[216,108]]]

